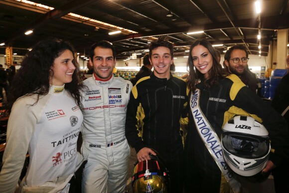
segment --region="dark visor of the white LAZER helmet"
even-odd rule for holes
[[[223,132],[223,147],[231,154],[247,159],[262,158],[270,151],[269,137]]]

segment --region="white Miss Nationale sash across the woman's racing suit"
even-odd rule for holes
[[[240,184],[234,179],[233,171],[224,161],[220,139],[199,108],[199,99],[200,90],[196,89],[195,94],[191,93],[190,95],[190,107],[198,133],[233,192],[240,193]]]

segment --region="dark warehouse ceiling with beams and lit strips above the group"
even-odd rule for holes
[[[251,54],[259,54],[261,44],[267,56],[270,40],[289,28],[289,0],[261,2],[257,14],[255,0],[0,0],[0,43],[5,43],[0,54],[9,45],[25,55],[37,41],[57,37],[81,55],[105,39],[116,47],[117,59],[126,59],[133,53],[142,57],[150,41],[165,35],[176,57],[188,55],[185,50],[197,38],[223,44],[215,47],[220,51],[244,44]],[[194,31],[203,32],[187,34]]]

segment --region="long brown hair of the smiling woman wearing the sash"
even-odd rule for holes
[[[205,48],[207,48],[213,57],[213,65],[212,65],[212,68],[209,70],[209,76],[206,79],[204,79],[204,74],[202,74],[199,70],[197,69],[194,70],[193,57],[191,53],[192,53],[192,49],[197,45],[202,45]],[[226,73],[222,69],[221,64],[217,60],[216,50],[214,49],[212,44],[206,39],[197,39],[191,45],[190,51],[189,51],[189,58],[187,62],[187,68],[189,68],[189,76],[187,78],[187,85],[191,91],[195,91],[196,89],[195,84],[198,79],[204,81],[205,87],[209,88],[212,85],[216,84],[219,79],[223,79],[225,76],[228,75],[228,73]]]

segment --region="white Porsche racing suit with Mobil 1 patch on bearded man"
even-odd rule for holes
[[[83,93],[83,145],[87,164],[84,193],[123,193],[126,188],[130,147],[125,137],[127,104],[132,83],[121,77],[108,81],[86,79]]]

